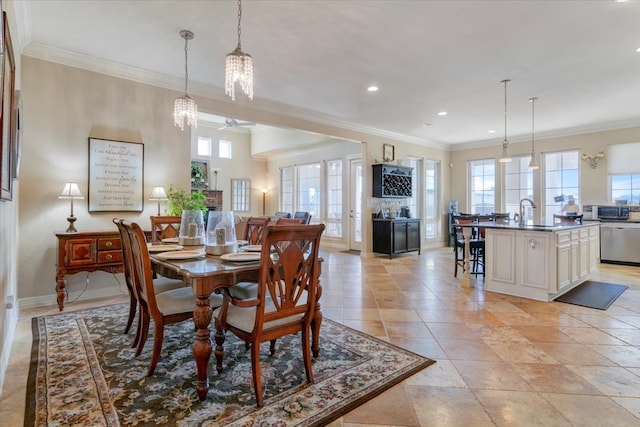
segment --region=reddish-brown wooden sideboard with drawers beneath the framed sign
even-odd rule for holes
[[[60,311],[64,310],[67,298],[65,275],[98,270],[122,273],[122,242],[117,230],[55,234],[58,238],[56,294]]]

